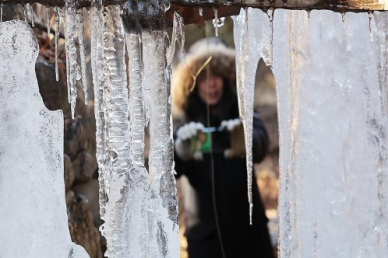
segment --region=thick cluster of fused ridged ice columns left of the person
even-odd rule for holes
[[[166,33],[142,31],[134,19],[135,26],[124,35],[119,6],[105,8],[105,16],[102,12],[101,3],[95,3],[90,23],[100,212],[105,221],[101,232],[107,238],[106,255],[179,257]],[[148,119],[150,178],[144,165]]]

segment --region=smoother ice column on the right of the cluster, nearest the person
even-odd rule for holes
[[[162,14],[164,15],[164,14]],[[170,73],[165,31],[155,21],[143,29],[144,89],[150,95],[149,257],[179,257],[177,197],[173,169]]]

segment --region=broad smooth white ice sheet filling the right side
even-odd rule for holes
[[[386,257],[388,15],[276,10],[280,257]],[[375,22],[374,22],[375,21]]]

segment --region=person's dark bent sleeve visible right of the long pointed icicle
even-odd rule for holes
[[[262,161],[268,152],[269,138],[259,114],[253,116],[253,162]]]

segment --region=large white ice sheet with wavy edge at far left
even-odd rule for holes
[[[63,115],[40,97],[38,42],[27,23],[10,21],[0,45],[0,256],[89,257],[68,231]]]

